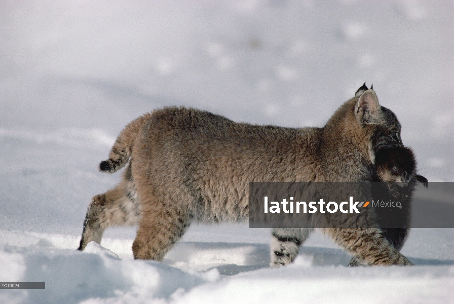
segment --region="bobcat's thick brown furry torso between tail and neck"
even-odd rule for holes
[[[319,128],[254,126],[177,107],[150,121],[133,148],[133,178],[141,187],[152,176],[160,196],[171,194],[198,220],[247,218],[250,181],[323,178]]]

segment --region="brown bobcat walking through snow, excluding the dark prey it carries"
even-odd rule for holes
[[[375,151],[396,145],[401,126],[365,84],[323,128],[235,123],[184,107],[147,113],[125,127],[100,170],[123,180],[92,199],[80,250],[106,227],[138,223],[134,258],[162,260],[192,221],[248,218],[250,181],[364,181]],[[272,266],[291,262],[309,230],[274,229]],[[324,229],[365,264],[411,264],[379,229]]]

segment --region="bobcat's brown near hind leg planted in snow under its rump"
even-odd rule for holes
[[[187,210],[160,202],[142,204],[142,217],[132,244],[134,258],[161,261],[186,232],[192,218]]]

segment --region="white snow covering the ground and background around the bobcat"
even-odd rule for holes
[[[314,233],[270,269],[267,229],[193,225],[161,262],[135,227],[79,245],[97,172],[132,119],[184,105],[322,126],[364,81],[429,181],[454,181],[454,3],[5,2],[0,6],[0,290],[5,303],[454,303],[454,229],[413,229],[414,267],[348,268]]]

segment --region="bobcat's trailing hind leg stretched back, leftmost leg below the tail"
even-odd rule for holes
[[[132,226],[140,218],[140,205],[131,186],[125,182],[94,196],[84,221],[79,250],[84,250],[88,243],[101,243],[102,235],[107,227]]]

